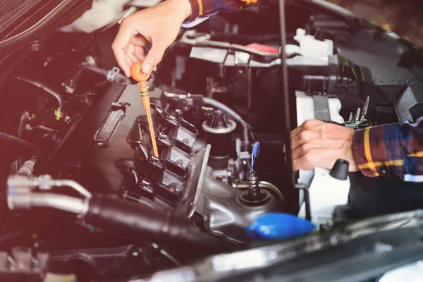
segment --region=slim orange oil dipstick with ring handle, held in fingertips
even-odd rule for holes
[[[149,94],[148,94],[148,86],[146,80],[149,78],[149,74],[145,74],[142,72],[141,69],[141,62],[133,64],[130,68],[130,76],[137,82],[140,82],[140,93],[142,99],[142,105],[145,108],[145,112],[147,113],[147,121],[148,127],[150,131],[150,136],[152,137],[152,145],[153,145],[153,152],[154,157],[159,157],[159,150],[157,149],[157,142],[156,137],[154,135],[154,127],[153,127],[153,120],[152,120],[152,113],[150,111],[150,102],[149,102]]]

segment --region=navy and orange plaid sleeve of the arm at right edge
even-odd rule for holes
[[[353,153],[364,176],[423,182],[423,117],[357,130]]]

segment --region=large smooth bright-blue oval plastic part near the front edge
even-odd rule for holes
[[[264,214],[247,227],[247,235],[256,240],[290,239],[307,235],[316,226],[310,221],[283,213]]]

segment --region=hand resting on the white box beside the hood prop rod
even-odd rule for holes
[[[293,171],[314,167],[331,169],[337,159],[350,163],[348,171],[357,171],[353,157],[355,130],[341,125],[308,120],[290,133]],[[283,146],[283,152],[286,147]]]

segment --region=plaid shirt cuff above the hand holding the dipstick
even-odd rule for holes
[[[191,4],[191,16],[185,23],[191,23],[199,17],[210,16],[218,12],[238,11],[245,6],[258,5],[262,0],[188,0]]]

